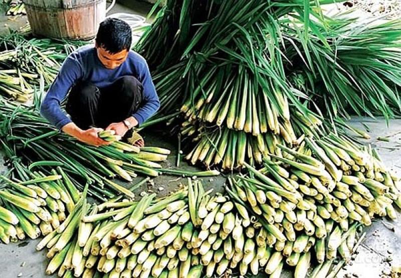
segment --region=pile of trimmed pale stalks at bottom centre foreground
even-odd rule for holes
[[[108,277],[200,277],[206,267],[207,276],[212,277],[237,265],[242,272],[248,266],[258,272],[259,261],[270,261],[268,233],[260,223],[251,223],[242,205],[235,206],[222,195],[211,197],[200,182],[192,185],[189,180],[188,189],[151,206],[153,195],[138,203],[101,204],[99,210],[123,208],[84,216],[79,227],[75,224],[70,241],[63,241],[69,248],[62,252],[54,253],[56,233],[45,237],[39,248],[47,244],[51,248],[48,256],[55,255],[47,273],[58,270],[64,277],[71,273],[96,277],[102,272]],[[257,254],[256,246],[260,246]],[[272,257],[270,264],[274,261]]]

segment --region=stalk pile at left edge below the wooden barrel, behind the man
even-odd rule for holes
[[[26,102],[35,89],[45,90],[56,78],[61,63],[82,42],[30,38],[12,31],[0,37],[0,91]]]

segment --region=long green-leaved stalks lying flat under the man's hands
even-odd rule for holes
[[[114,177],[132,181],[137,173],[157,176],[160,162],[167,158],[169,150],[160,147],[137,147],[119,141],[110,131],[99,134],[110,145],[93,147],[60,132],[48,123],[34,107],[0,99],[0,139],[6,156],[13,161],[19,157],[27,164],[35,163],[42,170],[50,171],[54,166],[62,167],[74,176],[75,183],[83,190],[82,181],[96,184],[90,194],[100,199],[114,197],[106,185],[117,192],[133,198],[133,193],[118,185]]]

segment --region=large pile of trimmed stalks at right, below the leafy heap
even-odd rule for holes
[[[287,257],[287,264],[296,265],[306,256],[309,261],[303,250],[310,242],[316,260],[326,261],[319,266],[319,277],[326,277],[337,252],[350,258],[357,225],[370,225],[375,215],[396,218],[401,182],[377,153],[346,139],[305,140],[294,149],[278,145],[283,155],[270,155],[261,170],[246,163],[249,176],[233,179],[228,192],[274,235],[268,244],[280,260]]]

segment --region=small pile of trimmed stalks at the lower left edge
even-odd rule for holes
[[[0,175],[0,239],[36,239],[58,229],[80,199],[64,171],[47,175],[15,161],[15,175]]]

